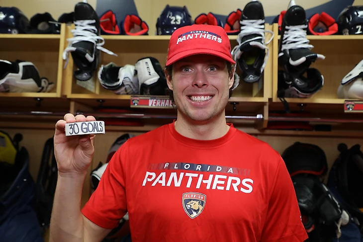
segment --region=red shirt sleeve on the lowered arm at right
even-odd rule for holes
[[[261,242],[303,242],[308,239],[301,222],[295,189],[281,157],[269,190],[270,200]]]

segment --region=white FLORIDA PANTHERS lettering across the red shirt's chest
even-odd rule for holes
[[[185,185],[186,188],[195,189],[218,189],[226,191],[251,193],[253,191],[253,179],[241,178],[241,175],[249,175],[249,169],[235,167],[226,167],[208,164],[193,163],[159,163],[149,165],[149,169],[155,171],[146,171],[142,185],[151,186],[174,186],[180,187]],[[186,170],[185,172],[166,172],[161,170]],[[191,172],[195,171],[195,172]],[[203,172],[203,174],[197,171]],[[221,172],[225,174],[206,174],[205,172]],[[229,174],[229,175],[228,175]],[[233,174],[238,174],[236,176]]]

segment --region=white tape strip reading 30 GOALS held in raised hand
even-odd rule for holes
[[[66,136],[104,134],[103,121],[88,121],[66,124]]]

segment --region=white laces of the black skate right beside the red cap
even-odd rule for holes
[[[233,50],[232,50],[232,56],[234,56],[235,61],[237,62],[238,59],[240,59],[242,52],[240,50],[240,46],[243,44],[242,43],[242,38],[247,36],[247,35],[251,35],[251,34],[258,34],[259,36],[253,38],[253,39],[249,39],[248,42],[254,41],[254,40],[259,40],[262,39],[262,44],[263,47],[265,49],[267,49],[267,54],[265,57],[265,61],[264,64],[261,67],[261,72],[264,71],[267,60],[269,58],[269,48],[267,48],[266,45],[268,45],[272,39],[273,39],[273,32],[271,30],[267,30],[265,29],[265,20],[264,19],[246,19],[246,20],[241,20],[240,21],[240,33],[237,36],[237,43],[238,45],[236,45]],[[266,41],[265,38],[265,33],[271,33],[272,36],[269,39],[269,41]]]

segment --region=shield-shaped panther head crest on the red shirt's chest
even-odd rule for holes
[[[194,219],[203,211],[205,207],[206,195],[198,192],[183,193],[182,204],[185,213]]]

